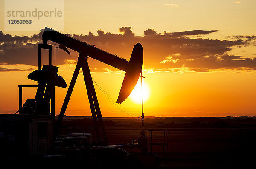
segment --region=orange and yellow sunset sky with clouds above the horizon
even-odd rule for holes
[[[250,20],[255,16],[251,10],[255,5],[250,0],[172,3],[65,0],[63,33],[128,60],[133,45],[140,42],[149,90],[144,104],[146,116],[255,116],[256,37],[253,34],[256,24]],[[36,43],[41,40],[41,28],[30,32],[5,31],[3,12],[0,15],[0,113],[15,113],[18,85],[36,84],[27,75],[37,69]],[[45,26],[51,27],[51,23]],[[59,49],[56,51],[58,74],[67,85],[78,56],[75,51],[70,52],[69,56]],[[88,62],[95,82],[116,101],[124,72],[93,59]],[[46,52],[43,52],[43,63],[47,63]],[[94,85],[103,116],[129,116]],[[67,88],[56,87],[56,115],[66,92]],[[23,102],[35,97],[35,89],[24,89],[23,93]],[[140,116],[141,105],[130,96],[121,105]],[[91,115],[82,75],[78,77],[65,115]]]

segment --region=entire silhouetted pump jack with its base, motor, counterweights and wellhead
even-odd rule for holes
[[[81,158],[83,158],[84,156],[87,156],[88,153],[90,155],[92,154],[92,156],[93,153],[95,153],[94,155],[96,155],[96,159],[100,159],[99,161],[115,160],[115,163],[122,163],[122,160],[127,160],[126,155],[128,155],[128,153],[123,149],[119,149],[119,147],[124,145],[107,145],[108,139],[87,58],[91,57],[126,72],[116,101],[118,104],[121,104],[130,95],[140,77],[143,65],[142,45],[140,43],[134,45],[131,58],[127,61],[126,59],[122,59],[116,55],[96,48],[94,45],[89,45],[86,42],[82,42],[47,27],[44,28],[42,40],[43,42],[38,44],[38,70],[35,70],[28,75],[28,79],[37,81],[38,85],[19,85],[19,110],[17,111],[19,114],[16,112],[15,114],[0,115],[0,124],[3,124],[2,127],[0,125],[0,134],[3,135],[3,139],[0,139],[0,158],[7,159],[15,156],[17,159],[23,161],[26,157],[39,157],[40,155],[43,157],[49,155],[49,158],[58,157],[59,154],[57,156],[51,156],[52,153],[56,152],[64,153],[64,155],[67,153],[67,158],[69,157],[68,153],[70,151],[74,150],[76,153],[76,149],[72,149],[71,146],[62,144],[65,143],[65,139],[72,140],[73,138],[58,137],[58,130],[60,130],[61,121],[64,118],[79,71],[82,68],[93,117],[96,144],[91,143],[92,140],[90,139],[90,133],[82,133],[83,138],[81,139],[84,139],[83,141],[86,146],[84,144],[79,147],[79,153],[77,155],[82,154]],[[58,67],[52,65],[52,45],[48,44],[48,41],[58,43],[59,48],[66,51],[68,54],[70,54],[70,52],[67,48],[79,53],[78,62],[56,124],[54,124],[55,86],[65,88],[67,87],[67,84],[65,80],[57,74]],[[42,68],[41,49],[49,50],[49,65],[43,65]],[[143,74],[141,77],[144,78]],[[22,104],[22,87],[37,87],[35,99],[27,99],[26,102]],[[142,116],[142,119],[143,118],[144,114]],[[76,135],[78,133],[73,134]],[[64,139],[64,141],[56,141],[58,139]],[[56,146],[59,147],[57,149],[54,145],[55,141],[56,143],[61,142],[61,146]],[[133,143],[132,146],[137,145],[139,148],[143,148],[142,152],[145,154],[147,147],[146,144],[145,132],[142,130],[138,144]],[[64,148],[62,149],[62,147]],[[66,147],[69,147],[70,149],[66,149]],[[150,161],[152,161],[152,157],[153,156],[148,157],[151,159]],[[139,157],[131,157],[130,160],[134,158],[135,161],[136,159],[139,159]],[[147,163],[148,158],[145,158],[144,156],[141,158],[145,159]],[[157,161],[156,156],[153,158]],[[40,158],[38,158],[38,160],[40,160]],[[90,158],[87,160],[90,161]],[[127,162],[132,164],[129,162],[129,158]]]

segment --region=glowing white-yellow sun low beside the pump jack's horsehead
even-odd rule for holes
[[[149,99],[150,91],[148,84],[144,81],[143,89],[141,88],[141,80],[139,79],[134,90],[132,90],[129,98],[137,104],[141,104],[141,97],[143,96],[144,103]]]

